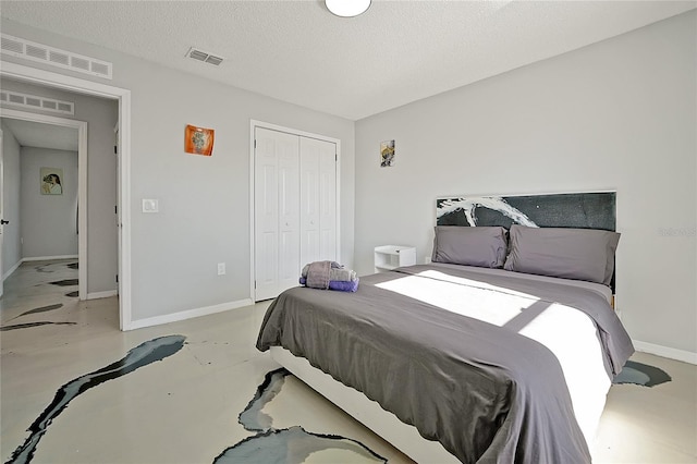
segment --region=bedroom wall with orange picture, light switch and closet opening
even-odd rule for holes
[[[112,81],[72,75],[131,90],[134,320],[241,302],[252,296],[249,121],[253,119],[341,141],[341,259],[352,265],[352,121],[5,20],[2,20],[2,29],[28,40],[110,61]],[[2,59],[59,72],[41,63],[7,56]],[[211,66],[210,72],[215,73],[216,69]],[[216,131],[212,157],[184,152],[186,124]],[[142,213],[144,198],[159,199],[160,212]],[[218,262],[227,262],[225,276],[217,276]]]

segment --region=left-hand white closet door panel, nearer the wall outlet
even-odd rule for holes
[[[278,296],[299,277],[298,136],[255,129],[255,301]]]

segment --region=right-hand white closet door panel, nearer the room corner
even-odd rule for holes
[[[301,137],[301,264],[337,260],[337,145]]]

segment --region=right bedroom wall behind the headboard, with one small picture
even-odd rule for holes
[[[616,190],[623,321],[697,359],[696,44],[693,11],[358,121],[358,272],[377,245],[430,256],[438,196]]]

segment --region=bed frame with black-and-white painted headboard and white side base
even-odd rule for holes
[[[615,230],[615,192],[438,198],[437,225],[566,227]],[[614,277],[612,282],[614,293]],[[458,463],[439,442],[423,438],[362,392],[334,380],[290,351],[271,346],[271,357],[322,396],[417,463]],[[591,443],[588,443],[590,447]]]

